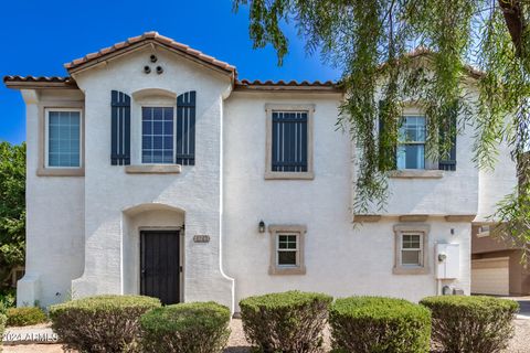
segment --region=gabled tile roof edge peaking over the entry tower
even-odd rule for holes
[[[140,46],[149,45],[150,43],[159,44],[190,60],[224,71],[231,74],[233,79],[235,79],[235,77],[237,76],[235,66],[216,60],[213,56],[203,54],[202,52],[191,49],[186,44],[176,42],[170,38],[160,35],[158,34],[158,32],[146,32],[141,35],[129,38],[125,42],[116,43],[113,46],[104,47],[98,52],[87,54],[83,57],[66,63],[64,64],[64,67],[68,71],[70,74],[73,74],[83,68],[93,66],[94,64],[98,64],[102,61],[114,57],[118,54],[123,54]]]

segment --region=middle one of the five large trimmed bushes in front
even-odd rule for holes
[[[247,340],[261,352],[317,352],[333,298],[286,291],[240,301]]]

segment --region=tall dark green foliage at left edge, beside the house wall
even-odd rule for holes
[[[0,142],[0,288],[24,265],[25,143]]]

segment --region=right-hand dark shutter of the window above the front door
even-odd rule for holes
[[[195,100],[194,90],[177,97],[177,164],[195,164]]]

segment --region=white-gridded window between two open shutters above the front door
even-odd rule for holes
[[[141,108],[141,162],[174,162],[174,108]]]

